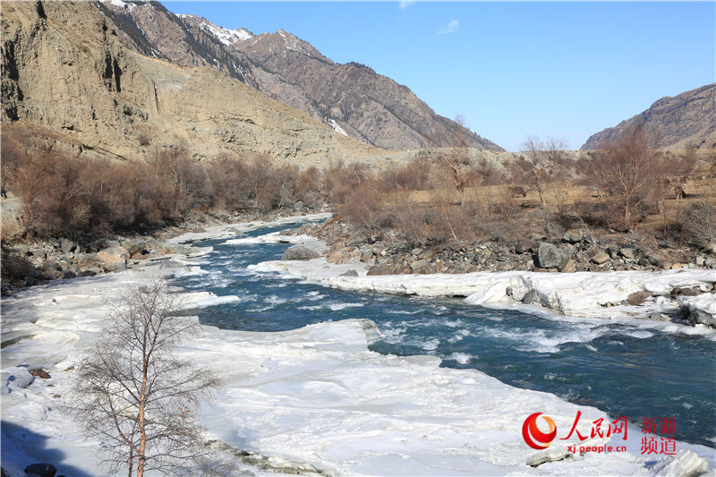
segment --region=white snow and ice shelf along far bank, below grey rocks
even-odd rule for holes
[[[704,289],[711,290],[716,284],[714,270],[569,274],[507,271],[369,277],[358,262],[332,265],[325,259],[303,262],[268,261],[250,268],[255,271],[278,271],[286,277],[301,278],[342,290],[420,296],[464,296],[467,303],[485,306],[504,307],[516,302],[521,303],[525,294],[532,292],[542,308],[575,317],[648,318],[654,314],[673,314],[687,308],[693,316],[698,317],[695,321],[697,325],[716,324],[716,293],[678,299],[659,296],[638,306],[615,306],[615,303],[626,301],[630,294],[636,292],[668,294],[677,286],[703,286]],[[359,277],[342,277],[341,274],[348,269],[358,271]],[[535,307],[524,307],[524,310],[534,311]]]

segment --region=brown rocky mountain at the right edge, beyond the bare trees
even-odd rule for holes
[[[716,83],[661,98],[643,113],[592,134],[582,149],[600,149],[636,124],[644,124],[656,149],[686,149],[692,144],[698,149],[716,149]]]

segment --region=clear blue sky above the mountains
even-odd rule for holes
[[[716,81],[716,2],[162,2],[228,29],[283,29],[405,84],[507,150],[579,149]]]

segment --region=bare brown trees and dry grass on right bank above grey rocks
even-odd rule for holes
[[[337,198],[338,210],[371,240],[393,237],[408,247],[512,241],[537,230],[558,239],[572,227],[634,232],[656,215],[663,224],[661,234],[683,230],[692,237],[684,237],[687,241],[710,247],[709,202],[687,216],[693,217],[691,225],[683,214],[668,217],[666,212],[665,200],[674,199],[678,183],[694,170],[695,154],[653,151],[639,128],[579,161],[563,149],[563,141],[530,138],[522,157],[503,170],[471,159],[466,149],[423,153],[412,164],[382,175],[362,175],[360,183]],[[578,184],[593,187],[598,199],[584,197]],[[517,200],[515,191],[531,192],[537,203]],[[696,236],[706,239],[696,241]]]

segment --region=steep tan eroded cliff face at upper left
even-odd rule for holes
[[[197,157],[231,150],[294,161],[379,153],[216,69],[129,50],[95,4],[2,7],[4,124],[39,126],[77,152],[112,158],[173,145]]]

